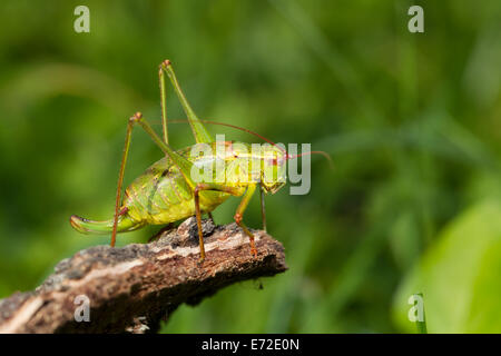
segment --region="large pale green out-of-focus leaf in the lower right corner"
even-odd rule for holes
[[[394,301],[402,330],[411,295],[424,294],[430,333],[500,333],[501,204],[487,200],[455,218],[404,279]]]

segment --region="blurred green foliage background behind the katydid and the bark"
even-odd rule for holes
[[[287,273],[181,306],[163,332],[414,333],[418,291],[431,333],[501,332],[500,1],[8,0],[0,23],[0,297],[108,244],[68,218],[111,217],[127,118],[159,123],[168,58],[200,118],[311,142],[335,169],[314,157],[308,195],[266,199]],[[168,113],[184,118],[170,88]],[[160,157],[135,131],[126,182]],[[261,226],[257,198],[246,219]]]

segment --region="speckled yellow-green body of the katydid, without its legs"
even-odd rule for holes
[[[189,157],[191,146],[177,152],[200,167],[223,161],[225,177],[233,177],[235,170],[248,160],[248,157],[239,152],[237,147],[249,145],[233,141],[226,141],[224,145],[226,149],[223,155],[200,156],[193,159]],[[210,146],[216,152],[216,144],[213,142]],[[248,151],[250,151],[249,147]],[[259,185],[259,179],[253,180],[249,176],[247,182],[225,182],[226,187],[235,189],[234,196],[242,196],[250,185]],[[199,194],[200,214],[213,211],[230,196],[229,192],[217,190],[202,191]],[[169,157],[164,157],[126,188],[120,210],[122,214],[118,218],[117,233],[131,231],[145,225],[169,224],[196,215],[195,196],[178,167]],[[109,234],[114,225],[114,219],[92,221],[75,216],[71,221],[73,227],[84,234]]]

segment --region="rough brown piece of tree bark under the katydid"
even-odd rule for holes
[[[203,229],[202,264],[195,218],[150,244],[78,251],[33,291],[0,300],[0,333],[155,333],[183,303],[287,269],[282,244],[265,231],[253,230],[255,258],[236,224],[204,220]]]

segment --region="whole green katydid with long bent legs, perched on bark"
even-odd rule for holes
[[[188,117],[188,122],[195,136],[197,145],[206,144],[213,150],[213,155],[190,155],[193,146],[174,150],[168,145],[167,130],[167,108],[166,108],[166,78],[168,76],[177,93],[183,109]],[[115,216],[107,221],[94,221],[71,216],[71,226],[85,234],[109,234],[111,233],[111,246],[115,246],[117,233],[131,231],[145,225],[163,225],[196,216],[198,226],[198,237],[200,246],[200,261],[205,258],[204,237],[202,231],[202,214],[210,214],[217,206],[230,196],[243,197],[234,216],[235,221],[249,238],[250,253],[257,256],[254,244],[254,235],[247,229],[243,221],[244,211],[256,191],[261,190],[263,226],[266,229],[266,218],[264,210],[264,194],[274,194],[284,186],[285,179],[279,171],[285,171],[286,160],[292,158],[285,149],[277,146],[263,146],[259,150],[253,151],[250,145],[244,142],[225,141],[224,152],[217,152],[217,145],[212,135],[207,131],[202,120],[197,118],[183,93],[177,78],[174,73],[169,60],[164,61],[159,68],[159,82],[161,96],[161,122],[163,139],[151,129],[140,112],[135,113],[128,121],[127,136],[124,155],[120,165],[118,187],[116,195]],[[144,175],[138,177],[126,190],[125,198],[121,198],[124,171],[130,146],[132,127],[139,125],[151,137],[155,144],[166,155],[164,158],[150,166]],[[223,165],[224,181],[205,179],[196,181],[191,171],[194,165],[215,164]],[[245,172],[239,165],[240,160],[247,164],[249,160],[257,161],[257,174],[248,172],[248,179],[228,179],[236,170],[242,175]],[[237,168],[236,168],[237,167]],[[265,172],[272,172],[266,177]]]

